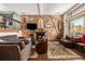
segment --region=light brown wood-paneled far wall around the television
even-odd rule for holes
[[[26,24],[32,20],[39,27],[46,30],[46,37],[48,40],[57,40],[63,35],[63,16],[62,15],[22,15],[22,29],[26,29]],[[42,18],[41,22],[40,18]],[[51,24],[51,28],[46,28],[45,25]],[[43,25],[43,26],[42,26]]]

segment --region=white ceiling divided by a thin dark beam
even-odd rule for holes
[[[18,14],[63,14],[75,3],[4,3],[9,11]],[[39,8],[39,9],[38,9]]]

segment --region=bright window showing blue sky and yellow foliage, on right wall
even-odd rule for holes
[[[84,34],[85,17],[80,17],[70,22],[70,34],[73,36],[81,36]]]

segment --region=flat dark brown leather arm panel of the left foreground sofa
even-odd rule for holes
[[[20,48],[17,44],[0,44],[0,61],[19,61]]]

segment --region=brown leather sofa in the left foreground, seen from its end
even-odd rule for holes
[[[0,39],[4,40],[0,41],[0,61],[26,61],[30,57],[30,38],[28,43],[25,40],[20,41],[15,36],[4,36],[2,38],[0,37]]]

